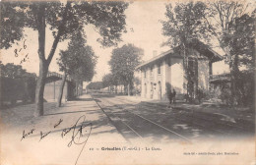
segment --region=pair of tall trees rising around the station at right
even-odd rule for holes
[[[184,60],[195,39],[221,48],[230,70],[230,102],[242,104],[246,80],[240,68],[252,78],[255,72],[255,12],[254,4],[243,1],[180,2],[174,8],[167,4],[161,23],[168,40],[163,45],[179,49]]]

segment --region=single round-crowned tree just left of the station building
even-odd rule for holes
[[[109,65],[111,73],[114,77],[120,78],[127,87],[128,95],[133,87],[133,78],[135,68],[141,63],[143,49],[134,46],[133,44],[123,45],[120,48],[115,48],[112,51]]]

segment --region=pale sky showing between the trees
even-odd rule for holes
[[[164,1],[136,1],[129,5],[128,9],[125,11],[126,15],[126,25],[127,33],[122,35],[122,42],[118,44],[121,47],[124,44],[132,43],[137,47],[144,50],[143,60],[147,61],[153,57],[153,51],[157,50],[158,54],[167,51],[169,47],[161,47],[160,44],[166,39],[161,34],[161,24],[160,20],[164,20],[165,12]],[[28,54],[29,60],[22,64],[23,68],[28,72],[35,73],[38,75],[39,71],[39,61],[37,55],[37,32],[31,28],[25,28],[25,38],[14,44],[8,50],[1,50],[1,60],[4,64],[14,63],[19,65],[21,60]],[[110,73],[110,68],[108,66],[108,61],[111,57],[111,51],[115,47],[102,48],[96,39],[98,38],[98,33],[95,31],[93,26],[85,27],[87,33],[88,45],[91,45],[96,53],[97,64],[96,64],[96,75],[93,82],[101,81],[102,77]],[[46,45],[45,54],[49,53],[51,44],[53,42],[53,37],[49,30],[46,30]],[[26,44],[27,48],[21,50],[18,53],[18,57],[15,57],[15,49],[22,48]],[[56,49],[55,55],[49,66],[50,72],[58,72],[59,67],[56,63],[56,59],[59,56],[60,50],[67,49],[68,41],[60,42]],[[222,73],[224,64],[216,64],[217,71],[214,73]],[[218,71],[218,69],[220,71]]]

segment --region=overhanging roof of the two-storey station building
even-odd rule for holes
[[[211,62],[217,62],[223,60],[223,56],[221,56],[219,53],[214,51],[210,46],[204,44],[203,42],[199,41],[198,39],[194,39],[191,44],[191,48],[194,48],[204,56],[208,57]],[[175,49],[175,48],[174,48]],[[182,56],[179,53],[174,53],[174,50],[170,49],[166,52],[161,53],[159,56],[156,56],[149,61],[146,61],[139,66],[136,67],[137,69],[140,69],[146,65],[152,64],[160,59],[163,59],[164,57],[171,56],[171,57],[179,57],[182,58]]]

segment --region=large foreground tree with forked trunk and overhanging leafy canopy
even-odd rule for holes
[[[15,40],[23,38],[24,27],[38,32],[39,76],[36,84],[34,116],[43,115],[43,91],[49,64],[59,41],[70,37],[81,25],[94,25],[100,34],[102,46],[111,46],[121,40],[125,32],[124,2],[2,2],[1,48],[9,48]],[[14,26],[15,25],[15,26]],[[52,31],[54,41],[48,56],[45,54],[46,27]]]

